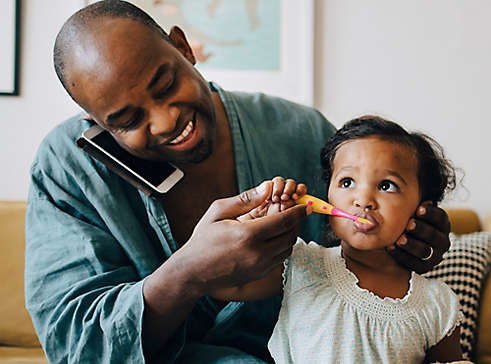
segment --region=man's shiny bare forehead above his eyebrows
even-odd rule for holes
[[[156,31],[131,19],[98,22],[67,58],[69,87],[81,106],[91,112],[95,102],[99,106],[106,101],[112,104],[113,100],[105,99],[110,98],[108,92],[115,85],[137,86],[147,68],[163,59],[174,60],[176,51]]]

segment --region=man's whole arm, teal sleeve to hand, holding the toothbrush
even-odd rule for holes
[[[267,274],[288,256],[305,217],[305,207],[298,206],[264,219],[236,220],[270,191],[218,200],[190,240],[143,280],[152,264],[137,268],[128,259],[124,241],[95,211],[93,203],[103,202],[86,200],[78,175],[60,172],[55,180],[46,172],[35,169],[29,197],[26,305],[52,362],[175,356],[184,340],[176,330],[194,302],[214,289]],[[80,183],[84,178],[80,175]]]

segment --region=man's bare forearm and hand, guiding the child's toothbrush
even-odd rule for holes
[[[306,206],[259,219],[237,219],[259,206],[271,190],[272,182],[265,182],[215,201],[189,241],[146,279],[146,355],[153,357],[161,350],[199,297],[265,277],[291,254]]]

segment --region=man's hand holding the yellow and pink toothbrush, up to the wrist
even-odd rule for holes
[[[311,211],[306,205],[238,219],[272,196],[274,186],[273,181],[263,182],[239,196],[215,201],[176,252],[192,271],[199,295],[259,279],[291,254],[300,222]]]

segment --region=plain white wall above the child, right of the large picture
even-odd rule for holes
[[[491,2],[316,1],[316,106],[429,133],[465,171],[446,205],[491,211]],[[320,20],[320,21],[319,21]]]

